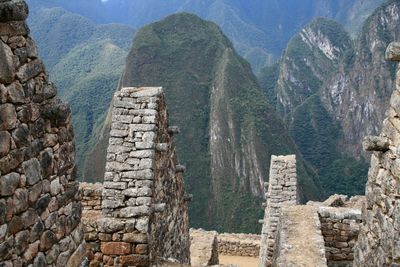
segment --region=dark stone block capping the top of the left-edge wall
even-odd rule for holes
[[[28,5],[25,1],[12,0],[0,2],[0,22],[22,21],[28,17]]]

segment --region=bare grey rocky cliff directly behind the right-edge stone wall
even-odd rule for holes
[[[354,50],[321,91],[324,106],[342,126],[343,150],[354,157],[365,155],[362,138],[376,134],[382,126],[395,70],[385,62],[384,51],[400,37],[399,20],[398,1],[378,8],[366,21]]]

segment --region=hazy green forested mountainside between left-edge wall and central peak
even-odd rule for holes
[[[78,174],[84,177],[89,140],[110,105],[134,30],[99,25],[62,8],[37,10],[29,24],[60,97],[71,106]]]

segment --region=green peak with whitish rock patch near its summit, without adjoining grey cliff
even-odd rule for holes
[[[366,176],[363,163],[342,153],[340,122],[321,96],[322,88],[352,48],[340,24],[318,18],[289,42],[279,66],[266,69],[260,79],[329,194],[360,194]],[[273,79],[277,80],[275,85],[270,82]]]

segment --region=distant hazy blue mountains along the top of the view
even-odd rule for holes
[[[288,41],[313,18],[322,16],[358,32],[384,0],[29,0],[33,15],[43,7],[63,7],[97,23],[140,28],[176,12],[217,23],[237,51],[258,71],[272,64]],[[80,38],[80,37],[78,37]]]

